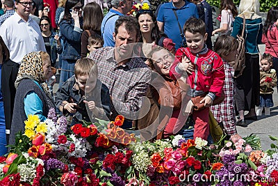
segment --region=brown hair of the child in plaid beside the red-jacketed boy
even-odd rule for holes
[[[214,43],[214,52],[218,53],[221,58],[228,56],[230,52],[238,49],[238,41],[232,36],[218,36]]]

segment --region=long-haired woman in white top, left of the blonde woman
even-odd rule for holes
[[[238,15],[238,10],[233,0],[221,0],[220,2],[220,11],[221,11],[221,22],[220,28],[215,29],[212,33],[220,33],[220,35],[231,35],[233,29],[233,22],[236,15]]]

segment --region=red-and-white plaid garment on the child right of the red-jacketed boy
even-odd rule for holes
[[[224,63],[225,81],[223,91],[225,99],[221,104],[211,106],[214,118],[224,125],[224,131],[228,135],[237,134],[236,132],[236,111],[234,107],[234,68],[226,61]]]

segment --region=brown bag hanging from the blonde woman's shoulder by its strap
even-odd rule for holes
[[[243,38],[245,31],[245,16],[243,15],[243,31],[241,32],[241,36],[236,36],[236,40],[238,41],[238,56],[236,57],[236,61],[231,61],[229,64],[234,68],[234,78],[240,77],[243,75],[243,70],[245,69],[245,39]]]

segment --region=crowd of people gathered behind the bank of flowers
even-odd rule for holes
[[[278,87],[278,7],[270,8],[263,24],[259,0],[241,0],[238,9],[221,0],[220,28],[213,31],[206,0],[172,0],[159,6],[157,16],[141,9],[134,17],[126,15],[132,0],[110,3],[104,16],[104,1],[3,1],[0,155],[24,131],[29,114],[44,121],[51,107],[69,116],[69,126],[114,121],[121,114],[122,128],[147,129],[142,139],[182,134],[210,143],[212,116],[236,142],[236,125],[246,127],[263,109],[270,114]],[[242,32],[245,68],[235,78],[231,63]],[[56,68],[60,79],[53,93]]]

